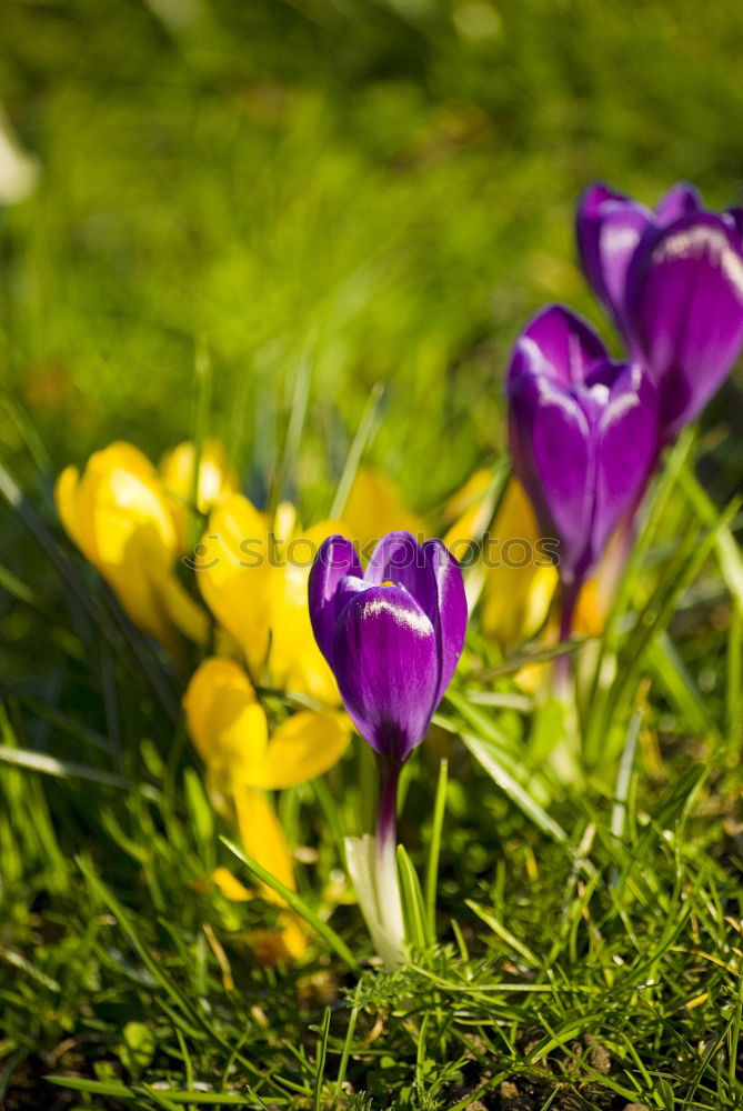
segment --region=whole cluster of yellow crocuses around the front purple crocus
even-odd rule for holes
[[[197,481],[190,442],[169,451],[159,468],[132,444],[112,443],[91,457],[82,476],[74,467],[62,472],[57,507],[71,540],[134,624],[177,657],[181,637],[213,650],[184,694],[189,732],[212,798],[235,820],[245,850],[293,889],[291,854],[265,792],[327,771],[351,737],[310,625],[312,554],[334,533],[362,548],[393,529],[421,538],[435,533],[388,478],[368,468],[355,477],[343,521],[302,530],[293,506],[280,503],[270,521],[240,492],[218,442],[203,444],[198,463]],[[539,541],[515,480],[491,524],[492,491],[491,472],[479,471],[446,506],[445,542],[454,554],[485,532],[499,544],[510,538],[528,547]],[[473,568],[483,630],[504,650],[545,623],[558,575],[535,562],[493,559]],[[194,571],[205,608],[183,585],[183,563]],[[271,691],[281,698],[267,699]],[[248,897],[224,869],[215,880],[229,897]],[[279,901],[269,888],[261,895]],[[268,944],[270,955],[302,951],[301,931],[288,913],[278,937],[279,944],[277,937]]]

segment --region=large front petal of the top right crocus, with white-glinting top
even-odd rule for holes
[[[715,216],[677,220],[643,240],[627,274],[635,358],[660,393],[673,439],[722,384],[743,343],[743,254]]]

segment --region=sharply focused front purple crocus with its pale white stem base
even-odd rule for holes
[[[330,537],[310,572],[309,602],[315,640],[345,709],[376,753],[376,837],[348,838],[347,860],[376,950],[395,965],[404,959],[398,777],[425,737],[462,652],[462,573],[439,540],[421,547],[409,532],[391,532],[364,572],[353,544]]]

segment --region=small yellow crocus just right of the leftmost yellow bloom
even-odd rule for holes
[[[193,468],[195,466],[195,447],[191,440],[184,440],[167,451],[160,460],[160,477],[165,489],[175,497],[172,499],[171,512],[178,532],[181,552],[189,544],[189,502],[193,497]],[[209,510],[228,493],[240,489],[238,476],[230,467],[224,448],[219,440],[204,440],[199,458],[199,482],[197,489],[197,508],[200,513]]]

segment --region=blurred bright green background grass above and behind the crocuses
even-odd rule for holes
[[[733,0],[6,0],[0,51],[40,163],[0,209],[0,367],[52,470],[187,436],[205,344],[247,479],[309,362],[300,484],[331,489],[384,382],[372,459],[425,510],[502,444],[532,312],[605,332],[574,263],[588,182],[741,200]],[[30,477],[17,412],[0,434]]]

